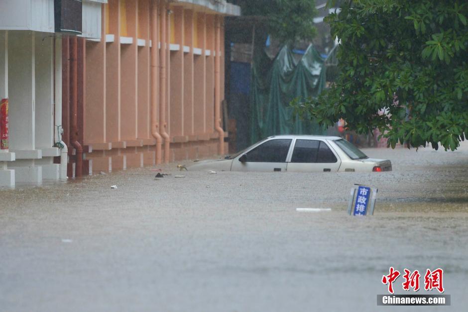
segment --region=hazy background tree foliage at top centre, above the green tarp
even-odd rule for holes
[[[265,16],[267,31],[280,43],[311,41],[315,34],[315,0],[239,0],[242,15]]]

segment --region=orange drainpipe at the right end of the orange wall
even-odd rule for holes
[[[215,129],[219,134],[220,155],[224,155],[224,130],[221,127],[221,16],[216,17],[215,35]]]

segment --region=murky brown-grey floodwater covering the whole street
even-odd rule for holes
[[[390,266],[423,272],[418,294],[444,269],[452,306],[421,309],[466,311],[467,145],[363,151],[393,171],[170,164],[0,190],[0,311],[380,311]],[[354,183],[379,189],[373,216],[347,215]]]

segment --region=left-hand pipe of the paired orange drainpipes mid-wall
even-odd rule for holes
[[[161,163],[162,136],[158,123],[158,5],[157,0],[151,3],[151,134],[156,139],[156,165]]]

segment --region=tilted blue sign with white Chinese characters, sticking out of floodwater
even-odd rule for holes
[[[377,189],[364,185],[356,185],[351,189],[351,197],[348,203],[348,214],[366,215],[374,214]],[[354,203],[354,206],[352,205]]]

